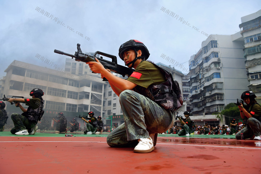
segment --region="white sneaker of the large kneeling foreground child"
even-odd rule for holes
[[[149,153],[154,150],[151,137],[144,139],[141,138],[138,141],[138,145],[134,148],[135,153]]]

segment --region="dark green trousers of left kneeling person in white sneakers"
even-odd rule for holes
[[[31,121],[27,117],[22,116],[18,113],[12,113],[11,119],[13,120],[15,125],[15,127],[10,130],[12,134],[25,129],[27,129],[30,133],[31,129],[37,124],[36,122]]]

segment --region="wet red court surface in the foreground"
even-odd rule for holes
[[[158,137],[151,153],[106,137],[1,137],[0,173],[261,173],[261,141]]]

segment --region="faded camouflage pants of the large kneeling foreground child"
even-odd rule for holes
[[[124,123],[107,136],[107,143],[111,147],[135,146],[138,139],[163,133],[174,124],[174,112],[170,113],[137,92],[123,91],[120,104]]]

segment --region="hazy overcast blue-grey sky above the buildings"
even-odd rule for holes
[[[173,66],[161,57],[164,54],[179,63],[186,62],[183,65],[187,69],[190,56],[207,39],[202,31],[208,35],[235,34],[240,31],[241,17],[260,9],[260,0],[1,0],[0,78],[14,60],[51,69],[56,64],[56,68],[64,69],[69,57],[54,53],[54,49],[74,54],[77,43],[83,52],[102,51],[118,57],[120,45],[130,39],[147,46],[149,60]],[[49,59],[49,64],[35,57],[37,54]],[[124,65],[120,58],[118,64]]]

